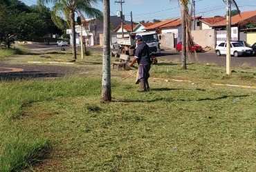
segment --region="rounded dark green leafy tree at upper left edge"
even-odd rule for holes
[[[17,0],[4,3],[0,13],[0,41],[10,48],[15,40],[30,41],[46,35],[46,23]]]

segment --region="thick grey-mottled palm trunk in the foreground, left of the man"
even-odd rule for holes
[[[111,101],[111,68],[110,68],[110,3],[103,0],[103,61],[102,61],[102,99]]]

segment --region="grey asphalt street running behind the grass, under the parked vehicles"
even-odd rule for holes
[[[60,47],[58,46],[39,46],[39,45],[27,45],[29,50],[60,50]],[[66,50],[72,48],[71,46],[65,46],[64,47]],[[87,47],[89,50],[93,51],[101,51],[102,48],[99,47]],[[77,50],[80,51],[80,47],[77,47]],[[116,48],[113,49],[111,48],[111,51],[119,51],[120,49]],[[214,51],[212,52],[197,52],[198,56],[198,61],[201,63],[215,63],[219,64],[220,66],[226,66],[226,55],[221,55],[220,57],[215,54]],[[158,59],[167,59],[170,61],[173,61],[175,59],[181,59],[181,52],[176,52],[176,50],[165,50],[161,51],[161,56],[157,57]],[[195,62],[196,58],[195,57],[188,57],[187,56],[187,61],[188,62]],[[251,66],[251,67],[256,67],[256,57],[231,57],[231,66]]]

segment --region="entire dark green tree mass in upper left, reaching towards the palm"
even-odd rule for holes
[[[8,48],[14,41],[38,40],[49,32],[62,35],[63,30],[55,26],[45,6],[40,11],[18,0],[0,1],[0,5],[0,43]]]

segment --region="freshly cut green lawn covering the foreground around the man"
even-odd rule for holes
[[[103,102],[101,64],[82,63],[96,54],[72,66],[86,73],[1,80],[0,171],[256,169],[255,68],[158,61],[147,93],[111,70]]]

